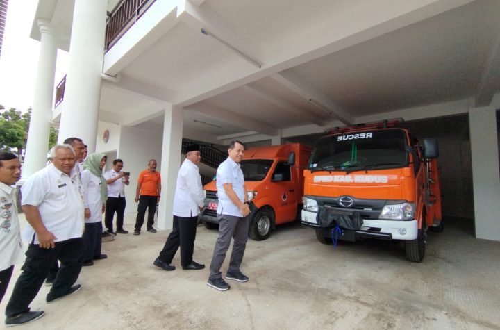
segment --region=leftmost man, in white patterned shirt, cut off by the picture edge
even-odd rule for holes
[[[14,265],[23,261],[14,183],[21,178],[21,163],[15,154],[0,152],[0,302]]]

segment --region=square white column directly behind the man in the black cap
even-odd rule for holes
[[[183,108],[165,108],[163,120],[163,145],[160,173],[162,175],[162,196],[158,210],[158,227],[172,229],[172,209],[177,174],[181,166],[181,147],[183,134]]]

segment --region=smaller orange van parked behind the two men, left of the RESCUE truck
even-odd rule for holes
[[[292,143],[245,150],[241,161],[245,188],[256,210],[249,215],[249,236],[265,240],[277,224],[300,218],[303,197],[303,170],[308,165],[311,147]],[[201,220],[215,229],[217,188],[215,181],[205,187],[205,208]]]

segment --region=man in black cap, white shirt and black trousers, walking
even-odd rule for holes
[[[185,150],[185,160],[177,175],[174,195],[174,224],[163,250],[153,265],[164,270],[175,270],[172,258],[181,247],[183,270],[202,270],[205,265],[193,261],[198,214],[203,210],[203,187],[198,164],[201,162],[199,145],[190,145]]]

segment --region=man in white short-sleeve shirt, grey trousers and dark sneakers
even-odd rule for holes
[[[244,145],[240,141],[233,141],[229,145],[228,158],[217,168],[217,219],[219,220],[219,237],[215,242],[212,262],[210,263],[210,277],[207,285],[219,291],[231,288],[224,279],[220,267],[226,258],[226,252],[233,238],[233,251],[229,261],[226,279],[246,282],[249,278],[242,274],[240,265],[248,240],[250,208],[247,204],[248,195],[244,186],[244,176],[240,168],[240,161],[244,155]]]

